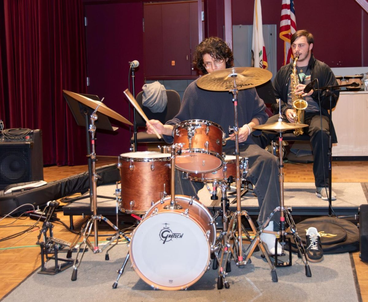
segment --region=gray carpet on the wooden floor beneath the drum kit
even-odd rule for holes
[[[230,289],[221,290],[217,289],[217,270],[212,270],[212,266],[187,291],[159,291],[142,281],[128,262],[118,287],[112,289],[116,271],[123,264],[126,253],[125,244],[115,246],[110,251],[110,260],[106,261],[103,253],[88,251],[79,266],[76,281],[71,281],[72,268],[55,276],[33,273],[3,302],[359,301],[348,253],[325,255],[322,262],[310,263],[311,278],[305,276],[303,263],[293,255],[292,266],[276,269],[279,278],[277,283],[272,282],[269,266],[259,252],[254,253],[252,263],[244,268],[238,268],[231,262],[232,270],[227,276]],[[195,252],[192,253],[195,256]],[[147,256],[152,261],[158,257],[149,249]]]

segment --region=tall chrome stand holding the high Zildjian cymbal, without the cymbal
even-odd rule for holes
[[[236,84],[237,74],[236,73],[230,74],[229,77],[233,78],[233,84],[234,84],[233,85],[234,88],[231,89],[230,92],[233,93],[233,96],[234,96],[233,103],[234,103],[234,123],[235,124],[234,124],[234,127],[230,130],[234,131],[234,134],[235,134],[237,210],[235,213],[230,214],[230,221],[229,221],[229,225],[227,226],[227,233],[226,233],[227,241],[226,241],[226,244],[224,244],[224,248],[223,248],[224,252],[222,253],[222,257],[219,262],[220,267],[219,267],[219,277],[217,279],[217,289],[222,288],[223,279],[226,276],[226,272],[224,271],[223,267],[224,267],[224,264],[227,263],[229,259],[229,253],[227,251],[230,250],[231,255],[234,255],[234,261],[236,263],[236,266],[244,267],[247,263],[250,263],[249,262],[250,257],[255,251],[255,248],[257,246],[261,249],[263,256],[267,259],[267,262],[271,269],[272,281],[273,282],[278,281],[276,269],[273,266],[273,263],[271,262],[266,252],[266,248],[263,245],[261,238],[259,237],[260,235],[259,232],[257,232],[256,227],[251,217],[248,215],[247,211],[241,210],[241,180],[242,178],[240,177],[240,164],[239,164],[240,153],[239,153],[239,138],[238,138],[239,128],[238,128],[238,111],[237,111],[237,106],[238,106],[238,99],[237,99],[238,89],[237,89],[237,84]],[[245,251],[246,254],[244,254],[244,256],[243,256],[243,235],[242,235],[244,227],[241,224],[241,217],[243,215],[248,220],[248,223],[252,229],[252,232],[255,234],[255,238],[252,240],[251,244],[248,246],[247,250]],[[236,230],[236,227],[237,227],[237,230]],[[236,235],[236,232],[237,232],[237,235]],[[229,288],[230,285],[228,283],[225,283],[225,287]]]

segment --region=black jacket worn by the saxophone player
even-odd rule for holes
[[[317,60],[313,54],[308,62],[308,69],[311,71],[311,80],[317,78],[318,79],[318,86],[325,87],[325,86],[337,86],[337,81],[335,75],[333,74],[331,68]],[[293,64],[289,63],[284,65],[280,68],[277,72],[275,79],[273,80],[273,90],[275,91],[276,99],[281,99],[281,112],[285,114],[285,111],[290,108],[287,105],[287,93],[289,92],[289,85],[290,85],[290,74],[293,71]],[[334,90],[332,96],[332,108],[335,108],[337,99],[339,99],[339,90]],[[321,113],[324,116],[330,117],[328,110],[330,109],[330,98],[326,93],[326,90],[322,90],[319,92],[320,100],[321,100]],[[311,97],[318,103],[318,91],[314,91]],[[319,113],[316,113],[319,114]],[[337,143],[337,137],[335,128],[332,124],[332,142]]]

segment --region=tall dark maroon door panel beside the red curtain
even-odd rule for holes
[[[138,60],[135,69],[135,95],[141,91],[143,74],[142,3],[86,4],[88,19],[87,54],[90,86],[88,93],[105,97],[103,103],[121,116],[133,121],[132,110],[123,91],[132,91],[129,61]],[[132,13],[134,12],[134,13]],[[130,131],[127,125],[116,134],[96,134],[96,154],[118,156],[128,152]]]

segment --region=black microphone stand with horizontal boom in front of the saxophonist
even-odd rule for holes
[[[337,85],[337,86],[325,86],[320,88],[313,88],[316,90],[326,90],[327,95],[329,96],[330,101],[330,119],[329,119],[329,141],[328,141],[328,216],[332,216],[332,207],[331,207],[331,193],[332,193],[332,95],[333,90],[340,90],[341,87],[347,86],[360,86],[358,82],[353,82],[345,85]],[[321,129],[322,130],[322,129]]]

